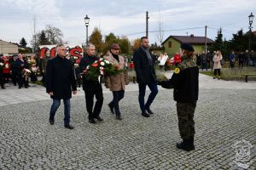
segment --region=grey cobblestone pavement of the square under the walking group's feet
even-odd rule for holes
[[[219,81],[218,88],[211,88],[213,80],[201,78],[208,83],[201,83],[195,150],[189,153],[176,149],[180,137],[172,90],[160,88],[151,108],[155,113],[145,118],[139,111],[137,85],[129,85],[120,102],[124,119],[117,121],[107,105],[112,94],[104,89],[104,121],[95,125],[87,122],[80,91],[72,99],[75,129],[68,130],[63,127],[63,104],[55,125],[49,125],[51,100],[44,88],[15,89],[17,98],[30,99],[25,90],[38,94],[0,106],[0,169],[241,169],[232,148],[241,139],[253,144],[248,169],[256,169],[255,87],[244,82],[246,89],[232,89],[224,85],[230,82]]]

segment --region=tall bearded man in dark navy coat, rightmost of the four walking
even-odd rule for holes
[[[137,75],[137,82],[139,86],[139,104],[142,110],[142,116],[149,117],[149,114],[153,114],[150,110],[150,105],[154,101],[156,94],[158,93],[156,76],[154,71],[154,57],[148,50],[148,37],[141,38],[141,46],[133,54],[134,66]],[[146,87],[151,90],[148,96],[148,100],[145,104],[144,97],[146,93]]]

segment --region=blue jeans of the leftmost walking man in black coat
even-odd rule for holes
[[[67,125],[70,122],[70,99],[63,99],[64,103],[64,124]],[[50,107],[49,117],[54,118],[55,113],[61,105],[61,99],[53,99],[53,103]]]

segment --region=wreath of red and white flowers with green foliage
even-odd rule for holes
[[[115,66],[107,59],[101,58],[85,68],[84,77],[88,80],[97,80],[101,76],[115,76],[122,71],[119,69],[119,66]]]

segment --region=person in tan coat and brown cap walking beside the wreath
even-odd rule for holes
[[[114,67],[119,70],[125,69],[125,59],[119,55],[119,44],[113,43],[110,47],[110,54],[104,56]],[[122,120],[119,110],[119,101],[124,98],[125,85],[129,83],[129,77],[126,71],[120,72],[118,75],[105,77],[105,85],[113,93],[113,100],[108,104],[110,111],[115,113],[117,120]]]

